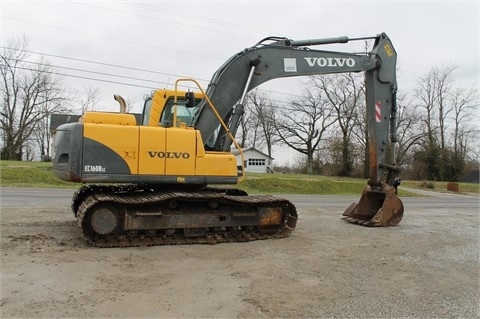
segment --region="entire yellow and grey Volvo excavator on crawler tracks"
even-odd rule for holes
[[[365,39],[374,39],[370,52],[312,48]],[[85,112],[78,122],[60,125],[54,173],[85,184],[75,192],[72,210],[94,246],[287,237],[298,218],[290,201],[250,196],[229,186],[244,178],[231,150],[233,144],[241,151],[234,136],[246,95],[276,78],[365,72],[370,178],[359,203],[347,208],[343,219],[394,226],[403,216],[396,195],[399,170],[386,162],[387,148],[394,149],[396,138],[396,57],[385,33],[356,39],[265,38],[226,61],[205,91],[193,79],[179,79],[174,89],[152,92],[138,123],[115,96],[120,112]],[[184,84],[196,89],[181,91]],[[209,186],[214,184],[227,186]]]

